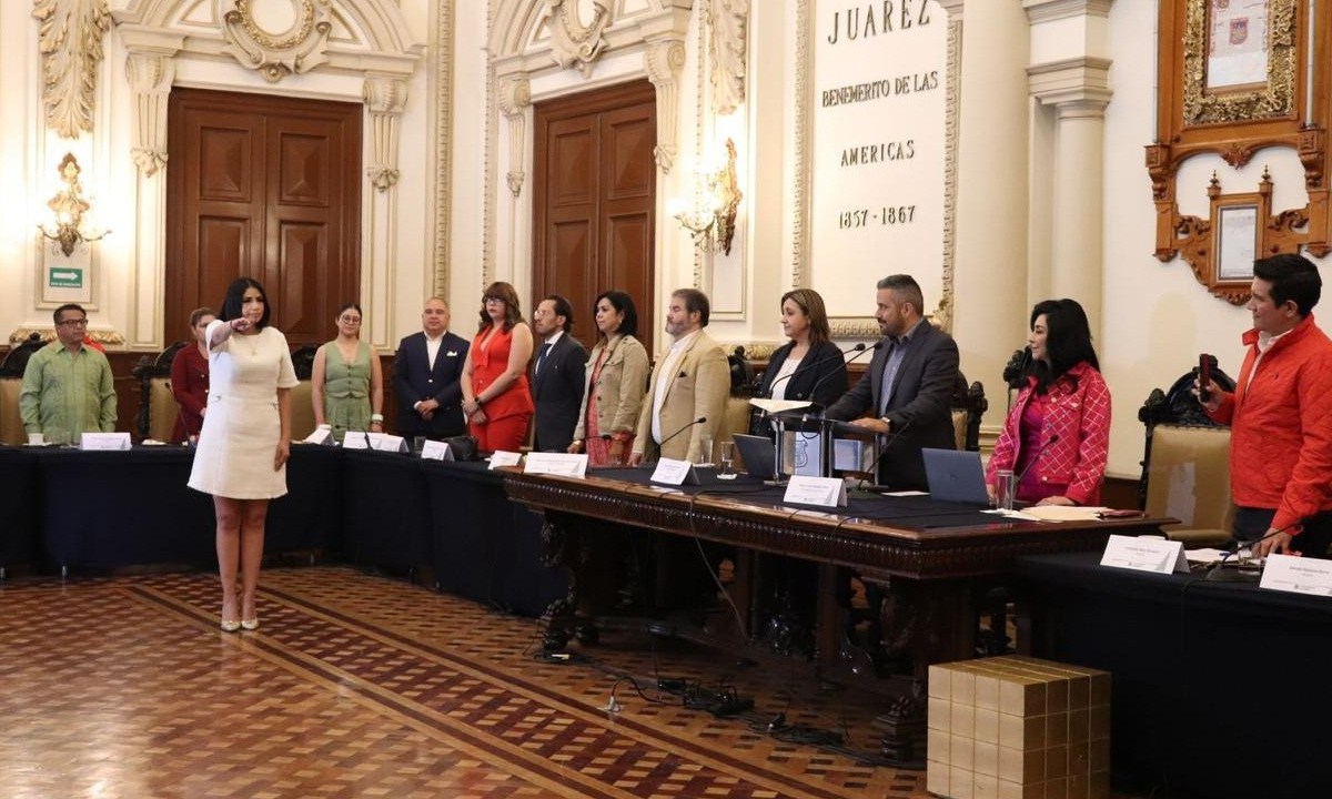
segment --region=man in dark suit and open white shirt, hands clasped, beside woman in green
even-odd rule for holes
[[[449,333],[449,305],[432,297],[421,312],[424,332],[398,344],[393,357],[393,394],[398,434],[442,439],[466,433],[462,421],[462,362],[468,342]]]

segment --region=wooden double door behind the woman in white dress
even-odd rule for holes
[[[172,89],[166,341],[220,310],[241,276],[264,284],[293,346],[330,340],[358,300],[361,115],[354,103]]]

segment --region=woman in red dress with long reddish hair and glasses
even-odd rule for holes
[[[460,381],[468,433],[481,451],[518,451],[527,439],[534,409],[527,388],[530,360],[531,328],[522,320],[518,293],[506,282],[490,284]]]

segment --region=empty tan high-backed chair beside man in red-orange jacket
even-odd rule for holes
[[[1173,517],[1164,527],[1185,546],[1223,546],[1231,539],[1235,506],[1231,502],[1231,429],[1203,413],[1192,388],[1191,370],[1168,392],[1152,390],[1138,411],[1146,427],[1139,501],[1151,515]],[[1212,366],[1212,380],[1227,392],[1235,381]]]

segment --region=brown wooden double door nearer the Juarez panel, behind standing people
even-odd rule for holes
[[[607,289],[634,298],[653,352],[657,100],[637,81],[535,107],[533,302],[563,294],[577,336],[597,340],[591,305]]]

